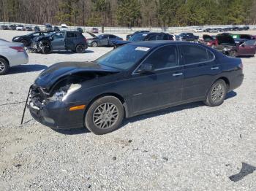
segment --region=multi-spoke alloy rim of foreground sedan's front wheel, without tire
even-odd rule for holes
[[[118,109],[115,104],[104,103],[95,109],[93,114],[93,122],[97,128],[112,128],[118,120]]]

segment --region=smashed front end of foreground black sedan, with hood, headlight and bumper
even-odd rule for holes
[[[61,64],[65,65],[65,63]],[[90,63],[86,64],[89,66]],[[67,71],[63,70],[59,66],[51,66],[43,71],[34,85],[31,85],[26,105],[35,120],[50,128],[81,128],[89,100],[80,95],[79,90],[88,87],[89,82],[94,83],[94,79],[114,74],[116,71],[90,69],[70,71],[70,67]],[[76,96],[72,96],[74,94]]]

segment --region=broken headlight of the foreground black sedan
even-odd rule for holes
[[[59,90],[56,90],[56,92],[53,94],[52,97],[49,98],[50,101],[64,101],[68,95],[75,92],[76,90],[79,90],[81,87],[80,84],[72,84],[72,85],[66,85],[64,87],[59,88]]]

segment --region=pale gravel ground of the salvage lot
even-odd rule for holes
[[[0,38],[22,33],[0,31]],[[256,189],[256,171],[229,179],[242,163],[256,166],[256,58],[242,58],[244,83],[219,107],[186,104],[132,117],[104,136],[85,128],[57,132],[29,112],[20,125],[29,86],[42,69],[93,61],[111,49],[29,53],[29,64],[0,77],[0,190]]]

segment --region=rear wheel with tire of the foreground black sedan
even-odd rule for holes
[[[223,79],[218,79],[211,86],[208,92],[206,101],[204,103],[207,106],[220,106],[223,104],[227,94],[227,84]]]

